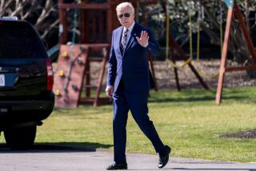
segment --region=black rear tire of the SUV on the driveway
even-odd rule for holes
[[[4,130],[6,145],[10,149],[30,149],[34,145],[37,125]]]

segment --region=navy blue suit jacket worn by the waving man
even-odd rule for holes
[[[152,56],[157,56],[160,50],[154,42],[150,30],[135,23],[126,50],[122,53],[120,46],[122,30],[123,26],[120,26],[112,33],[107,85],[114,86],[115,92],[122,78],[127,92],[147,94],[149,89],[154,87],[149,70],[148,55],[150,53]],[[141,46],[136,39],[136,37],[140,38],[143,30],[150,36],[147,47]]]

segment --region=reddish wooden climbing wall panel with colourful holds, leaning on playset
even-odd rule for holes
[[[58,63],[54,70],[56,108],[78,106],[87,57],[86,45],[60,46]]]

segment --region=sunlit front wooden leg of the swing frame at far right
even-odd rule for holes
[[[221,65],[220,65],[219,74],[218,74],[218,88],[217,88],[217,93],[215,98],[215,101],[217,104],[219,104],[222,100],[223,81],[225,76],[226,58],[228,53],[228,45],[230,41],[230,29],[231,29],[233,14],[234,14],[234,6],[231,6],[227,14],[226,33],[225,33],[225,39],[223,44],[223,50],[222,50]]]

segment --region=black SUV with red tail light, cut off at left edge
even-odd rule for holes
[[[0,18],[0,133],[11,149],[34,144],[54,109],[50,58],[29,22]]]

